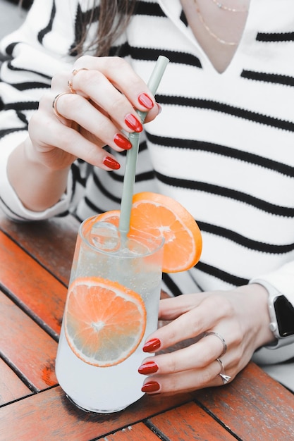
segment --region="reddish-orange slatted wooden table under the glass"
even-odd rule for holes
[[[249,364],[233,383],[145,396],[97,415],[54,373],[78,222],[13,223],[0,213],[0,440],[294,440],[294,395]]]

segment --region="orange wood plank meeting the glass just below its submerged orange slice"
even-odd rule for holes
[[[0,292],[0,352],[37,390],[57,383],[56,349],[57,343]]]

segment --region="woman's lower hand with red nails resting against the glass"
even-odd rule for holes
[[[274,340],[267,298],[264,287],[252,284],[161,300],[159,319],[171,323],[149,335],[143,350],[159,352],[186,339],[196,342],[145,359],[139,372],[152,376],[142,390],[174,394],[218,386],[226,383],[220,373],[233,380],[258,347]]]

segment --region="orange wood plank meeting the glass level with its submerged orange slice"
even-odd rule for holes
[[[59,334],[66,287],[1,231],[0,255],[2,285]]]

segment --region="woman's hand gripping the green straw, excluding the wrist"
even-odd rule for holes
[[[29,124],[27,155],[50,170],[66,169],[76,158],[117,169],[116,159],[103,147],[131,147],[128,132],[142,131],[135,109],[148,112],[146,121],[159,113],[147,85],[130,65],[118,57],[82,56],[73,72],[53,77],[51,89],[39,101]]]

